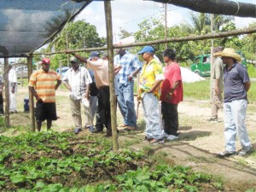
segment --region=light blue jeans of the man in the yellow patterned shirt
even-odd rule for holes
[[[152,93],[146,93],[143,97],[144,119],[146,121],[145,134],[148,138],[160,139],[162,137],[159,101]]]

